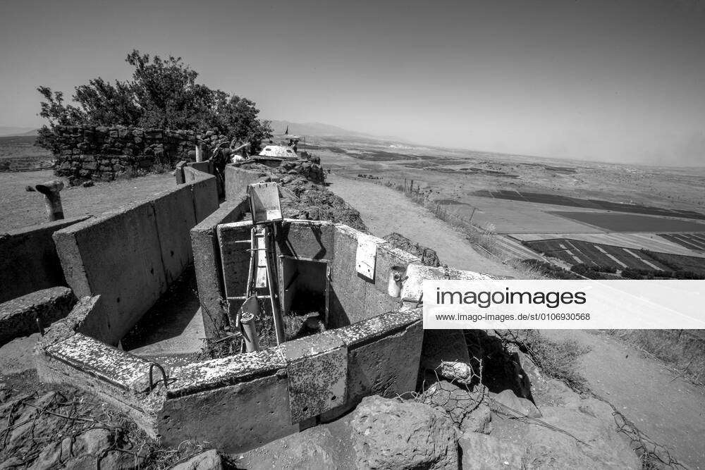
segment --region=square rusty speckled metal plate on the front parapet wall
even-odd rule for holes
[[[291,423],[312,418],[345,403],[348,348],[321,352],[287,364]]]

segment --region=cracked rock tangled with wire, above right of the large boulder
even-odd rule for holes
[[[443,409],[461,431],[489,434],[492,412],[484,400],[484,392],[482,386],[471,392],[454,383],[439,381],[424,390],[421,399]]]

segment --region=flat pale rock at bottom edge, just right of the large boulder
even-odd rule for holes
[[[458,439],[462,449],[462,470],[523,469],[526,447],[478,433],[465,433]]]

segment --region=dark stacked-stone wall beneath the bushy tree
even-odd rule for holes
[[[54,173],[71,184],[110,181],[155,165],[172,167],[195,159],[197,136],[192,130],[56,126],[54,134]]]

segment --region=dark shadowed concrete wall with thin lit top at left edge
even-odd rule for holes
[[[0,302],[66,285],[51,235],[86,218],[40,223],[0,235]]]

